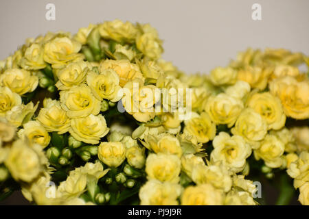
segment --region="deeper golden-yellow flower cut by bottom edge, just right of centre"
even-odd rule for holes
[[[222,205],[223,192],[211,184],[188,186],[181,196],[181,205]]]

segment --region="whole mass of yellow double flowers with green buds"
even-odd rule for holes
[[[0,200],[258,205],[279,176],[278,204],[308,205],[309,57],[248,49],[186,75],[161,53],[156,29],[115,20],[1,61]]]

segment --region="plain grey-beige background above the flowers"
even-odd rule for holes
[[[45,5],[56,5],[56,21]],[[251,5],[262,5],[262,21]],[[150,23],[164,40],[163,58],[187,73],[209,73],[247,47],[286,48],[309,55],[308,0],[1,0],[0,60],[25,38],[119,18]]]

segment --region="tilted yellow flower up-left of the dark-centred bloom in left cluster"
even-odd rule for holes
[[[72,86],[80,85],[86,81],[86,76],[92,68],[89,62],[73,62],[57,71],[58,81],[56,87],[58,90],[69,90]]]

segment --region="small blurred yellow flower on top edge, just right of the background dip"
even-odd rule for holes
[[[234,84],[237,81],[237,70],[231,67],[217,67],[211,70],[209,79],[216,86]]]

